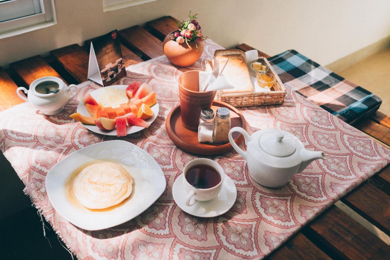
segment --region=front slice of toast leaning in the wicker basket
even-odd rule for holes
[[[214,57],[216,57],[216,59],[218,60],[220,69],[223,68],[227,59],[230,57],[230,60],[227,63],[222,74],[227,80],[227,82],[229,82],[230,85],[234,86],[234,89],[221,90],[221,93],[227,94],[254,91],[252,81],[250,80],[248,67],[245,64],[245,53],[243,51],[217,50],[214,53]],[[212,68],[214,68],[214,64]]]

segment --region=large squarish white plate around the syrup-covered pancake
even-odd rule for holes
[[[67,183],[72,173],[97,161],[122,165],[134,181],[130,199],[108,211],[89,210],[69,196]],[[110,228],[137,217],[161,196],[165,186],[158,163],[138,146],[122,140],[100,142],[75,151],[51,167],[46,176],[51,205],[69,222],[85,230]]]

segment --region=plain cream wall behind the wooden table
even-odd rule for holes
[[[102,0],[55,0],[55,9],[57,25],[0,39],[0,66],[164,15],[184,19],[190,10],[225,48],[295,49],[323,65],[390,35],[389,0],[157,0],[110,12]]]

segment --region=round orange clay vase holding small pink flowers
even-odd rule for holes
[[[191,66],[203,53],[203,41],[191,41],[188,45],[185,42],[179,44],[169,38],[169,35],[173,32],[170,32],[167,36],[165,36],[163,42],[163,51],[165,56],[167,56],[168,60],[176,66]]]

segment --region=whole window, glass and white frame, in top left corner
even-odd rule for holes
[[[53,0],[0,0],[0,39],[56,23]]]

